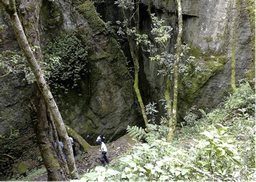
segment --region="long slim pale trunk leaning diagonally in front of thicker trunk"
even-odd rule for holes
[[[64,143],[64,151],[66,153],[66,158],[67,158],[71,178],[73,179],[79,178],[76,164],[75,164],[75,158],[73,157],[71,142],[66,132],[65,125],[62,120],[62,116],[59,113],[57,104],[53,99],[53,96],[50,92],[48,85],[45,82],[41,68],[39,67],[38,62],[35,56],[33,55],[33,52],[29,46],[28,40],[26,39],[21,22],[16,12],[15,1],[10,0],[8,3],[5,0],[1,0],[0,2],[3,4],[5,11],[8,13],[12,28],[14,29],[15,35],[18,39],[18,43],[21,46],[21,49],[25,55],[26,60],[28,61],[29,67],[31,68],[33,74],[35,75],[37,85],[43,94],[44,100],[46,102],[46,106],[48,106],[51,112],[53,121],[56,123],[56,128],[58,130],[60,139],[62,139]]]

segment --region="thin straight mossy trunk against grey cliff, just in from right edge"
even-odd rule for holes
[[[233,25],[233,42],[232,42],[232,57],[231,57],[231,88],[233,92],[237,90],[235,87],[235,54],[237,47],[237,23],[238,23],[238,15],[240,11],[240,0],[235,1],[235,19]]]

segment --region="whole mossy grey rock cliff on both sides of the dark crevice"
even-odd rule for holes
[[[247,3],[241,1],[237,28],[236,80],[244,78],[252,69],[254,57],[254,29]],[[81,3],[82,2],[82,3]],[[183,41],[191,47],[194,55],[204,69],[191,78],[181,78],[179,92],[179,114],[184,117],[186,110],[193,105],[200,108],[217,106],[231,87],[231,55],[233,24],[236,1],[189,0],[183,1],[184,33]],[[140,20],[143,32],[150,31],[150,19],[146,15],[149,1],[140,5]],[[95,6],[102,19],[113,24],[122,20],[114,1],[96,1]],[[174,52],[177,32],[177,13],[174,0],[152,1],[151,11],[166,20],[173,27],[170,52]],[[100,19],[91,2],[83,1],[44,1],[41,15],[41,43],[54,39],[61,31],[78,30],[89,42],[87,73],[77,88],[69,89],[69,94],[58,94],[57,101],[64,121],[80,135],[93,143],[97,135],[106,135],[109,140],[124,134],[128,124],[141,124],[136,97],[132,88],[132,77],[126,66],[129,50],[122,43],[123,51],[117,39],[112,36]],[[8,19],[3,11],[0,14],[0,51],[16,50]],[[140,55],[140,88],[144,103],[158,102],[163,99],[164,78],[157,75],[158,66],[151,62],[145,53]],[[10,74],[0,78],[0,135],[8,131],[4,113],[12,113],[10,122],[22,127],[31,121],[28,103],[32,97],[32,86],[21,83],[21,75]],[[187,84],[190,82],[190,84]],[[8,92],[6,91],[8,89]],[[160,106],[160,114],[164,108]]]

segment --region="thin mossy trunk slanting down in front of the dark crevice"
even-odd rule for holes
[[[132,37],[130,36],[130,34],[127,33],[127,29],[129,29],[129,22],[127,21],[127,17],[125,15],[124,8],[121,8],[121,11],[122,11],[123,19],[124,19],[125,32],[127,35],[127,40],[128,40],[129,46],[130,46],[130,52],[131,52],[131,56],[132,56],[132,60],[133,60],[133,64],[134,64],[133,88],[135,90],[140,109],[142,110],[142,116],[143,116],[144,123],[146,125],[146,129],[149,130],[147,128],[147,124],[149,124],[149,121],[147,120],[145,106],[144,106],[144,103],[142,100],[142,95],[140,94],[140,90],[139,90],[139,44],[138,43],[134,44]],[[129,19],[130,18],[131,17],[129,17]],[[136,31],[139,32],[139,1],[136,2],[136,10],[134,12],[133,19],[134,19]]]

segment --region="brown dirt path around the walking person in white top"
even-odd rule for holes
[[[117,141],[107,143],[107,158],[109,159],[110,163],[114,162],[114,159],[120,155],[124,155],[127,149],[130,148],[130,145],[133,145],[134,141],[131,137],[125,135]],[[90,154],[90,155],[89,155]],[[87,153],[79,154],[75,157],[77,170],[79,174],[84,174],[85,171],[90,171],[96,166],[102,165],[99,160],[100,152],[99,146],[92,146],[91,151]],[[36,178],[32,179],[33,181],[46,181],[47,180],[47,173],[41,174]]]

